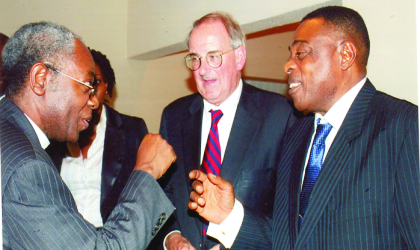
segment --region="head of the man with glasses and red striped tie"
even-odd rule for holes
[[[245,34],[225,12],[213,12],[194,22],[187,37],[187,67],[198,92],[211,104],[222,104],[238,87],[246,61]]]

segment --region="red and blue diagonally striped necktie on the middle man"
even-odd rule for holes
[[[211,128],[209,132],[209,137],[207,139],[206,149],[204,150],[203,164],[201,171],[205,174],[212,173],[219,175],[220,167],[222,166],[222,154],[220,151],[220,141],[219,141],[219,130],[217,129],[217,124],[222,118],[223,113],[221,110],[210,110],[211,112]],[[207,233],[207,223],[203,223],[203,236],[206,236]]]

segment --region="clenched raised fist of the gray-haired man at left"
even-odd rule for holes
[[[176,160],[176,155],[159,134],[147,134],[137,150],[134,170],[143,170],[159,179]]]

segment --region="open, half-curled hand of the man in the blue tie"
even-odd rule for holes
[[[195,210],[207,221],[220,224],[230,214],[235,204],[232,185],[214,174],[193,170],[190,179],[195,179],[188,208]]]

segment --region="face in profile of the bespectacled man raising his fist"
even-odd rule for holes
[[[95,64],[92,56],[82,42],[76,39],[75,44],[75,55],[62,72],[83,82],[93,82]],[[50,139],[76,142],[79,132],[89,126],[92,107],[98,107],[98,99],[96,96],[89,99],[88,87],[62,74],[50,84],[52,87],[45,97],[49,99],[41,118],[44,132]]]

